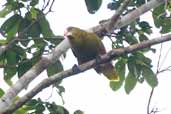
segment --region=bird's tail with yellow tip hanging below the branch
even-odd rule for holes
[[[106,63],[102,67],[102,73],[111,81],[119,81],[119,76],[111,63]]]

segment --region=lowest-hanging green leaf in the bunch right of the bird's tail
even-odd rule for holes
[[[129,72],[125,80],[125,86],[124,86],[125,92],[129,94],[136,86],[136,83],[137,83],[136,77],[131,72]]]

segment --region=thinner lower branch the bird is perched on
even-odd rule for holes
[[[113,49],[110,52],[108,52],[107,54],[103,55],[98,64],[106,63],[115,57],[119,57],[119,56],[124,55],[124,54],[132,53],[132,52],[144,49],[144,48],[148,48],[152,45],[159,44],[162,42],[166,42],[169,40],[171,40],[171,34],[166,35],[166,36],[162,36],[159,38],[155,38],[152,40],[144,41],[140,44],[134,44],[134,45],[128,46],[126,48]],[[16,103],[14,103],[3,114],[11,114],[12,112],[14,112],[18,108],[20,108],[23,104],[25,104],[27,101],[29,101],[31,98],[33,98],[38,92],[42,91],[44,88],[52,85],[53,83],[60,81],[64,78],[73,76],[75,74],[78,74],[80,72],[86,71],[88,69],[91,69],[91,68],[95,67],[96,65],[97,65],[97,62],[94,59],[94,60],[91,60],[85,64],[79,65],[78,67],[79,67],[80,71],[78,71],[78,72],[73,72],[72,69],[69,69],[69,70],[60,72],[58,74],[55,74],[55,75],[53,75],[47,79],[44,79],[41,83],[39,83],[36,87],[34,87],[25,96],[21,97]]]

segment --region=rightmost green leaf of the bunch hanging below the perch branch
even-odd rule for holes
[[[152,87],[156,87],[158,85],[158,79],[154,72],[148,68],[148,67],[143,67],[142,69],[142,75],[144,76],[144,79],[146,82]]]

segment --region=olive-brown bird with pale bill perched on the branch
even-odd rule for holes
[[[102,41],[95,33],[86,32],[76,27],[68,27],[64,36],[69,39],[72,52],[79,65],[95,59],[99,55],[106,54]],[[103,73],[109,80],[119,81],[119,76],[111,62],[98,65],[94,69],[97,73]]]

